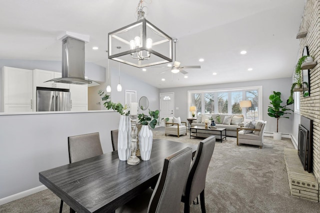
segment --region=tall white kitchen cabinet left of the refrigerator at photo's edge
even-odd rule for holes
[[[32,70],[2,67],[1,112],[32,112]]]

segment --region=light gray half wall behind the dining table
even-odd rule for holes
[[[67,137],[99,132],[112,151],[116,112],[0,115],[0,199],[40,186],[38,173],[68,164]]]

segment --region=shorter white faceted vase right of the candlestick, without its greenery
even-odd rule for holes
[[[148,125],[142,125],[139,132],[139,148],[142,161],[150,159],[153,134]]]

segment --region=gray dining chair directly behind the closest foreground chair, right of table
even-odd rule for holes
[[[206,171],[208,169],[215,145],[215,137],[202,140],[196,149],[192,160],[188,179],[184,186],[181,202],[184,203],[184,213],[190,212],[190,205],[200,195],[201,212],[205,213],[204,188]]]

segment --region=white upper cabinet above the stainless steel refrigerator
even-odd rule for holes
[[[60,88],[60,89],[69,89],[69,84],[64,83],[54,83],[53,81],[45,82],[53,78],[60,78],[62,73],[52,72],[42,69],[33,70],[33,84],[34,87],[51,87],[51,88]]]

